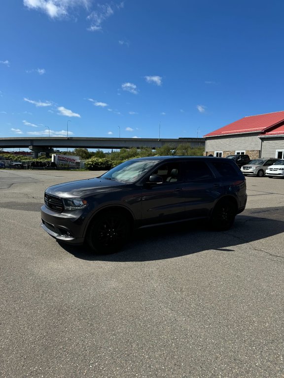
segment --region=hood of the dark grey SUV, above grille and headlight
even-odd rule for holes
[[[119,187],[126,185],[114,180],[93,178],[53,185],[47,188],[45,192],[61,198],[80,198],[97,192],[118,190]]]

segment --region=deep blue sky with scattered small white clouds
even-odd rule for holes
[[[0,137],[201,137],[284,110],[282,1],[0,8]]]

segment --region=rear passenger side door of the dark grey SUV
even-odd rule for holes
[[[223,192],[221,180],[215,178],[206,161],[186,161],[183,171],[183,195],[187,218],[208,217],[216,198]]]

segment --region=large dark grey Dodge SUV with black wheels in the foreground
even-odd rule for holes
[[[246,202],[246,179],[233,160],[137,158],[98,178],[46,189],[41,226],[58,241],[104,253],[143,226],[203,219],[229,229]]]

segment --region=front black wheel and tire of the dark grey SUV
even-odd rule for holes
[[[118,252],[129,239],[130,230],[130,221],[123,213],[104,212],[91,222],[86,243],[97,254]]]

